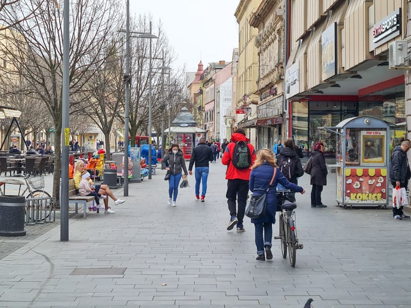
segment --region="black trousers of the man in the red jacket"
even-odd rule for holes
[[[244,213],[246,211],[248,196],[248,180],[228,180],[227,182],[227,203],[231,216],[237,216],[238,224],[242,225]],[[236,208],[236,200],[238,200],[238,211]]]

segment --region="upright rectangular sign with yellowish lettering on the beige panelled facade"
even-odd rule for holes
[[[337,23],[321,34],[323,81],[337,75]]]

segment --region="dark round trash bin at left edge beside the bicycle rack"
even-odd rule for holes
[[[0,196],[0,236],[25,236],[24,196]]]

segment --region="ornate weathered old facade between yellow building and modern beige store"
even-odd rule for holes
[[[284,1],[261,1],[250,20],[258,29],[257,148],[272,148],[285,136],[284,127]]]

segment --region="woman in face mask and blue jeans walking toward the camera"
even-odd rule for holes
[[[165,170],[170,170],[168,204],[176,206],[178,184],[181,180],[182,171],[184,170],[185,176],[188,175],[187,168],[185,167],[183,152],[180,150],[177,143],[173,143],[170,149],[165,153],[163,163],[166,167]]]

